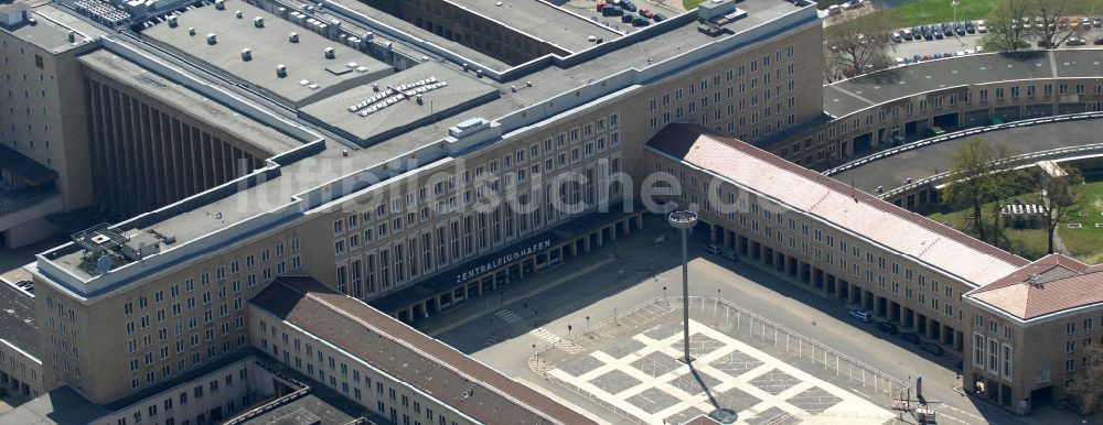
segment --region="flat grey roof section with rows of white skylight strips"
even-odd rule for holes
[[[378,90],[373,88],[375,85]],[[388,92],[393,94],[387,95]],[[393,103],[387,101],[403,92],[416,92],[421,101],[406,95],[401,95],[401,99]],[[494,86],[440,63],[427,62],[379,79],[371,86],[360,86],[322,99],[301,108],[299,112],[355,140],[365,140],[373,135],[390,134],[396,129],[427,119],[436,121],[438,115],[456,113],[456,108],[476,101],[490,101],[496,97],[497,88]],[[376,109],[376,105],[381,103],[390,105]],[[350,108],[355,108],[356,111],[351,111]]]

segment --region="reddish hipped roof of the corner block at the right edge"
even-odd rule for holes
[[[1103,269],[1050,254],[965,296],[1029,320],[1103,303]]]

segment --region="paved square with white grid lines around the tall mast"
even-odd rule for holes
[[[717,408],[740,425],[884,424],[891,412],[751,347],[689,320],[693,370],[682,355],[681,320],[641,326],[603,346],[570,352],[547,370],[555,381],[615,406],[641,423],[682,424]],[[704,386],[702,385],[704,383]],[[633,421],[634,422],[634,421]]]

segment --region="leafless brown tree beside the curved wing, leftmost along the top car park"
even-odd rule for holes
[[[889,51],[895,48],[892,25],[897,22],[893,12],[849,17],[847,13],[832,15],[824,28],[824,79],[853,77],[892,65]]]

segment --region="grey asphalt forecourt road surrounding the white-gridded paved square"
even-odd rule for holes
[[[574,331],[583,329],[586,317],[597,323],[612,317],[614,310],[623,312],[653,297],[675,295],[681,288],[678,246],[653,246],[656,236],[666,236],[672,242],[676,240],[673,232],[665,229],[665,224],[652,218],[642,233],[622,239],[615,248],[607,246],[599,253],[569,259],[558,270],[506,290],[504,297],[473,301],[422,327],[430,335],[436,335],[433,328],[448,329],[436,337],[510,377],[529,384],[546,384],[566,403],[601,414],[606,421],[617,421],[617,416],[586,397],[546,383],[528,370],[527,358],[533,353],[533,345],[546,342],[529,331],[539,327],[566,336],[568,325]],[[702,233],[698,232],[697,238]],[[956,358],[932,359],[915,346],[878,333],[872,325],[853,322],[846,315],[848,307],[839,302],[749,264],[705,254],[700,246],[699,239],[690,244],[690,295],[717,296],[719,293],[743,308],[901,380],[924,377],[924,396],[934,402],[932,405],[939,412],[940,423],[1028,423],[999,407],[957,393],[953,369]],[[651,277],[652,266],[660,272],[657,279]],[[564,279],[565,275],[571,279]],[[547,285],[555,286],[547,288]],[[668,288],[665,293],[664,286]],[[525,296],[534,290],[543,292]],[[507,323],[495,315],[502,309],[522,319]]]

